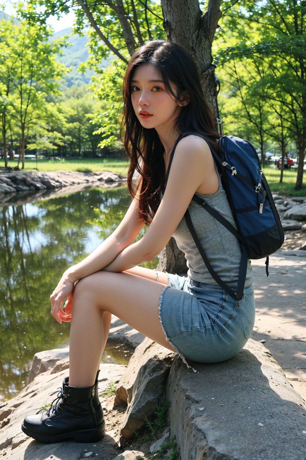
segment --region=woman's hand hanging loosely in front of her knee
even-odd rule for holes
[[[71,313],[70,314],[68,313],[69,311],[71,311],[71,308],[72,308],[72,295],[73,295],[75,284],[76,284],[75,279],[72,277],[72,275],[67,270],[61,277],[53,293],[50,295],[51,315],[60,324],[62,321],[71,321]],[[61,303],[65,299],[67,299],[66,304],[65,304],[66,314],[61,309]]]

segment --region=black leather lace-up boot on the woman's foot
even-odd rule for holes
[[[69,386],[66,377],[50,408],[43,413],[28,415],[22,423],[22,431],[45,443],[58,443],[64,439],[73,439],[77,443],[99,441],[105,436],[105,420],[98,397],[98,374],[99,371],[95,384],[86,388]]]

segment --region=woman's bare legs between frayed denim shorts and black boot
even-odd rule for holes
[[[137,273],[137,274],[136,274]],[[140,276],[139,276],[140,275]],[[135,267],[124,273],[100,271],[78,282],[70,331],[71,386],[91,386],[106,344],[111,313],[172,350],[159,320],[159,296],[167,275]]]

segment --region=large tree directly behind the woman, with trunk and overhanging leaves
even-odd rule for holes
[[[45,24],[50,15],[68,13],[74,9],[77,20],[75,29],[83,33],[89,26],[91,66],[98,67],[101,57],[110,52],[117,56],[120,63],[127,63],[135,48],[152,38],[167,38],[183,45],[195,58],[202,76],[203,89],[212,112],[217,115],[216,83],[212,65],[211,43],[221,17],[221,0],[145,0],[136,4],[135,0],[33,0],[19,11],[23,17],[34,23]],[[38,13],[38,7],[44,7],[44,13]],[[206,10],[203,12],[203,9]],[[120,64],[117,65],[117,70]],[[104,80],[100,78],[103,85]],[[107,82],[105,81],[107,88]],[[104,87],[105,87],[104,86]],[[115,92],[114,92],[115,96]],[[109,137],[107,125],[117,124],[120,113],[120,97],[114,98],[108,111],[108,123],[104,123],[101,132]],[[216,123],[217,128],[217,123]],[[185,265],[184,255],[176,248],[173,257],[162,258],[161,270],[175,271]],[[171,262],[172,260],[172,262]]]

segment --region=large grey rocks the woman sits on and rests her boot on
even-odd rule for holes
[[[189,362],[196,372],[150,339],[138,345],[128,366],[101,364],[106,436],[92,444],[44,444],[21,431],[26,414],[56,397],[68,367],[67,357],[58,358],[60,365],[37,374],[0,407],[0,459],[305,460],[305,401],[254,340],[226,362]],[[108,396],[113,382],[116,392]],[[139,439],[146,419],[165,401],[167,425]]]

